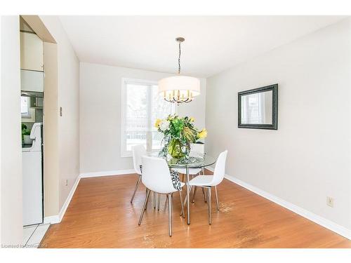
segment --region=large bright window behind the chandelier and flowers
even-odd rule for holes
[[[121,156],[131,156],[131,147],[144,144],[147,151],[159,151],[163,136],[154,128],[156,119],[175,113],[175,104],[157,92],[157,82],[122,79]]]

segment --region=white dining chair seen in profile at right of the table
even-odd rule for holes
[[[208,224],[212,223],[211,217],[211,188],[216,187],[220,182],[223,181],[225,175],[225,160],[227,159],[228,151],[225,150],[220,153],[218,159],[216,161],[215,170],[213,175],[199,175],[194,177],[192,180],[189,181],[189,185],[191,187],[204,187],[208,190],[207,194],[207,203],[208,203]],[[217,191],[216,191],[217,197]],[[217,198],[218,200],[218,198]],[[217,203],[218,209],[218,203]]]

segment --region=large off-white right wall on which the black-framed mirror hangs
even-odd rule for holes
[[[350,29],[343,20],[212,76],[206,96],[206,151],[229,150],[227,174],[347,229]],[[274,83],[278,130],[237,128],[237,93]]]

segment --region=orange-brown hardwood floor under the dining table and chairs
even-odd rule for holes
[[[191,224],[180,217],[173,197],[173,236],[168,236],[168,207],[154,210],[150,198],[138,226],[145,187],[131,195],[137,175],[81,179],[60,224],[41,241],[44,248],[351,248],[351,241],[233,182],[218,186],[220,211],[213,196],[212,224],[201,191],[191,203]],[[213,190],[214,191],[214,190]],[[183,191],[185,194],[185,191]],[[151,197],[151,196],[150,196]]]

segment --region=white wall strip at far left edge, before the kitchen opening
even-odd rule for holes
[[[1,17],[1,244],[22,244],[20,18]]]

